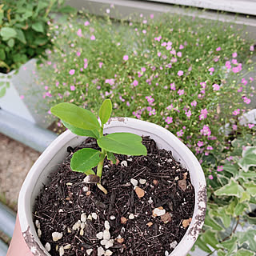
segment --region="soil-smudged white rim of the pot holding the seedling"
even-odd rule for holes
[[[142,126],[144,126],[144,128]],[[175,160],[183,163],[189,162],[189,164],[186,165],[186,168],[190,171],[191,182],[195,189],[194,214],[192,217],[192,221],[190,222],[190,226],[186,230],[186,234],[170,254],[171,256],[185,256],[198,238],[198,234],[202,229],[206,214],[206,179],[202,167],[198,162],[198,159],[189,150],[189,148],[185,146],[185,144],[183,144],[176,136],[174,136],[174,134],[170,133],[169,130],[166,130],[165,128],[158,126],[154,123],[145,122],[134,118],[110,118],[110,121],[107,122],[104,126],[104,130],[106,129],[107,133],[121,132],[122,130],[126,131],[127,129],[136,130],[136,132],[130,132],[134,132],[135,134],[137,133],[143,135],[150,135],[151,138],[157,139],[157,144],[160,148],[163,148],[163,145],[161,143],[171,142],[171,145],[174,145],[174,148],[171,150]],[[158,132],[156,132],[156,130]],[[159,134],[161,134],[161,136],[159,136]],[[26,242],[27,240],[30,241],[32,239],[32,242],[34,243],[33,245],[32,243],[28,245],[30,247],[30,250],[32,250],[31,247],[33,247],[33,250],[35,250],[34,247],[36,248],[37,253],[33,254],[32,252],[32,255],[50,255],[42,246],[42,243],[40,242],[36,234],[36,231],[34,229],[34,223],[32,221],[31,209],[33,208],[33,202],[31,202],[31,194],[33,193],[34,185],[38,181],[39,174],[43,173],[43,171],[40,171],[38,173],[38,169],[45,170],[47,165],[47,163],[45,162],[45,158],[55,158],[56,154],[59,151],[59,146],[57,145],[60,142],[62,143],[62,147],[64,147],[66,143],[69,143],[72,139],[75,138],[83,138],[84,140],[85,137],[72,134],[70,130],[66,130],[66,132],[59,135],[58,138],[56,138],[54,142],[52,142],[50,146],[46,148],[46,150],[34,163],[34,166],[31,167],[29,174],[27,174],[26,179],[23,182],[22,189],[18,198],[18,217],[24,239],[26,240]],[[165,138],[168,138],[168,140]],[[177,148],[179,154],[177,152]],[[177,156],[179,156],[178,159]],[[50,162],[50,160],[48,162]],[[191,170],[193,170],[193,173],[191,173]]]

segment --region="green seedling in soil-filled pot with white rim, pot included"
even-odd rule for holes
[[[7,255],[186,255],[206,212],[194,154],[160,126],[110,118],[110,99],[100,122],[70,103],[51,112],[69,130],[22,186]]]

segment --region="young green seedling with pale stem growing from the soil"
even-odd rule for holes
[[[64,126],[79,136],[97,139],[101,151],[84,148],[75,152],[71,158],[71,170],[82,172],[87,175],[86,182],[97,184],[98,188],[107,194],[101,185],[102,167],[104,159],[116,163],[115,154],[146,155],[146,147],[142,145],[142,138],[136,134],[113,133],[103,134],[103,126],[108,122],[112,113],[112,103],[106,99],[99,109],[99,118],[81,107],[71,103],[60,103],[50,109],[51,113],[62,120]],[[97,166],[97,173],[94,168]]]

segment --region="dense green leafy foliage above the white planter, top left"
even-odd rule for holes
[[[63,0],[3,0],[0,4],[0,73],[9,73],[31,58],[46,57],[50,14],[74,9]]]

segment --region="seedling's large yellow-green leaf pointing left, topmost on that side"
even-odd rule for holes
[[[62,121],[77,128],[84,130],[98,130],[100,128],[98,119],[93,113],[71,103],[60,103],[53,106],[50,112]]]

